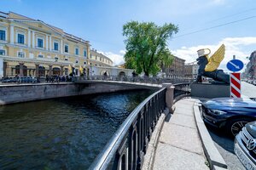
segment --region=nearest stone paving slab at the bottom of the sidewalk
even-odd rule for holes
[[[176,148],[169,144],[158,144],[155,155],[155,170],[205,170],[209,169],[203,156]]]

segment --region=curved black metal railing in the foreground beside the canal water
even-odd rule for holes
[[[165,108],[166,88],[161,88],[131,112],[90,169],[141,168],[148,142]]]

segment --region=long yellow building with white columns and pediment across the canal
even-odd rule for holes
[[[42,20],[0,12],[0,77],[45,77],[90,73],[94,65],[112,66],[108,57],[90,59],[90,42]],[[82,68],[82,69],[81,69]]]

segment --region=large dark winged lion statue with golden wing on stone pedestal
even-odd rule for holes
[[[211,50],[209,48],[199,49],[197,54],[198,58],[196,60],[199,65],[199,69],[195,82],[202,82],[201,77],[204,76],[212,78],[216,83],[230,83],[230,76],[225,74],[223,70],[218,70],[218,66],[224,59],[224,44],[222,44],[211,57],[208,56],[211,54]]]

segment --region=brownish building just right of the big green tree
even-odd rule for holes
[[[185,59],[174,56],[170,67],[163,67],[162,71],[166,73],[167,78],[183,78],[184,77]]]

